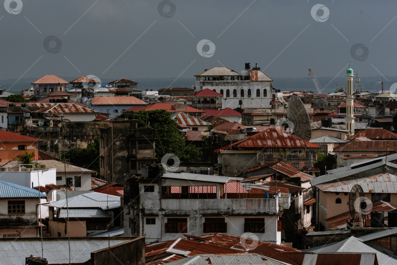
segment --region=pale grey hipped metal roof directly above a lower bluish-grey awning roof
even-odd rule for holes
[[[120,197],[107,195],[103,193],[83,193],[68,199],[70,208],[101,208],[108,209],[120,207]],[[52,201],[45,204],[46,206],[55,208],[66,208],[66,199]]]

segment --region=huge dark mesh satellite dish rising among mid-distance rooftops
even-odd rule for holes
[[[298,96],[293,95],[289,98],[287,117],[294,124],[292,130],[298,138],[305,141],[309,141],[312,138],[309,115]]]

